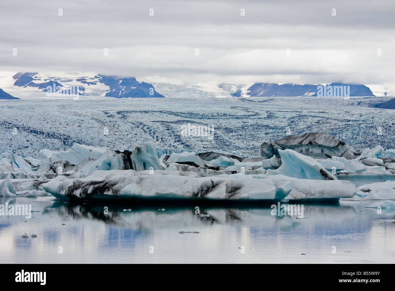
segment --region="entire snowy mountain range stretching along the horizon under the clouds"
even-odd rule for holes
[[[320,93],[319,87],[323,91]],[[365,86],[362,84],[332,83],[314,84],[229,84],[215,82],[185,83],[163,78],[139,78],[107,76],[96,73],[40,74],[38,72],[18,72],[0,76],[0,87],[16,97],[48,96],[47,92],[58,95],[76,92],[81,96],[147,98],[147,97],[330,97],[326,89],[344,89],[345,96],[392,96],[391,86]],[[346,91],[347,90],[347,91]],[[160,93],[158,93],[160,92]],[[324,93],[324,94],[322,94]],[[320,95],[321,94],[321,95]],[[332,95],[336,96],[336,95]],[[340,95],[337,95],[340,96]],[[58,97],[57,95],[55,97]]]

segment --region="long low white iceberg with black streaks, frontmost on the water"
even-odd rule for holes
[[[95,171],[81,179],[56,177],[41,184],[58,198],[207,198],[214,200],[277,200],[285,198],[292,183],[253,179],[246,175],[198,177],[181,171]]]

